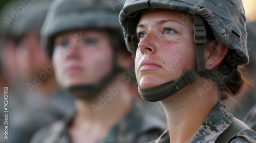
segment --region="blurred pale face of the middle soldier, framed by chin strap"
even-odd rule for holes
[[[56,36],[53,62],[61,87],[94,84],[112,69],[113,50],[105,31],[72,31]]]

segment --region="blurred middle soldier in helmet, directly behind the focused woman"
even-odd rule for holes
[[[118,3],[119,2],[119,3]],[[118,14],[109,1],[54,1],[41,30],[58,84],[75,97],[76,112],[37,132],[31,142],[147,142],[161,122],[139,112],[129,84]]]

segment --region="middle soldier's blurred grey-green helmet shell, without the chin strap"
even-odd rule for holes
[[[118,21],[122,6],[123,3],[120,2],[103,0],[54,1],[41,29],[42,42],[48,56],[51,58],[53,54],[54,36],[61,32],[86,28],[108,28],[122,34]]]

